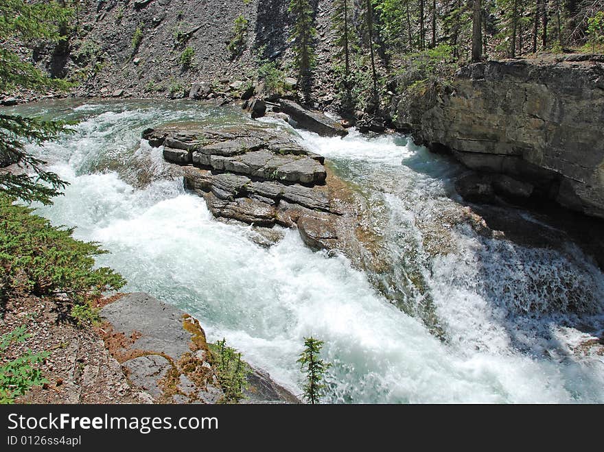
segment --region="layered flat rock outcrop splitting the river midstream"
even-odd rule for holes
[[[278,225],[297,228],[313,249],[360,254],[353,247],[359,209],[349,189],[328,177],[325,159],[280,130],[240,127],[164,126],[143,138],[163,145],[165,160],[180,165],[185,188],[204,198],[214,217],[262,230],[251,237],[262,246],[283,237],[267,235]]]

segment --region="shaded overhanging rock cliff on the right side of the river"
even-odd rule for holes
[[[512,194],[604,217],[603,62],[566,56],[472,64],[446,90],[398,99],[397,126],[469,168],[510,176],[491,182]]]

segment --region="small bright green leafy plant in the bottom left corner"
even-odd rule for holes
[[[25,326],[0,337],[0,355],[5,356],[11,344],[25,342],[30,334],[25,333]],[[47,383],[36,364],[44,361],[47,352],[32,353],[27,350],[24,355],[0,364],[0,404],[13,403],[16,397],[27,393],[33,386]]]

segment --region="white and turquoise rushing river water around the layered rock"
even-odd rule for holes
[[[604,402],[604,357],[578,347],[602,336],[603,274],[572,243],[524,247],[463,224],[445,224],[448,252],[425,250],[418,225],[442,226],[441,213],[458,208],[451,180],[462,170],[404,136],[297,132],[371,206],[392,271],[364,274],[345,257],[312,252],[294,230],[270,249],[257,246],[248,227],[213,219],[139,138],[167,121],[251,121],[233,108],[55,102],[17,111],[80,120],[74,134],[30,149],[71,182],[39,212],[110,250],[99,262],[121,272],[127,290],[193,313],[210,340],[226,337],[294,393],[303,337],[314,335],[334,364],[334,403]]]

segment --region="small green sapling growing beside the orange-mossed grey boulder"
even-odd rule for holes
[[[241,353],[227,346],[227,340],[222,339],[216,345],[211,345],[212,359],[216,366],[216,376],[222,386],[223,403],[238,403],[244,398],[247,388],[248,365],[241,360]]]

